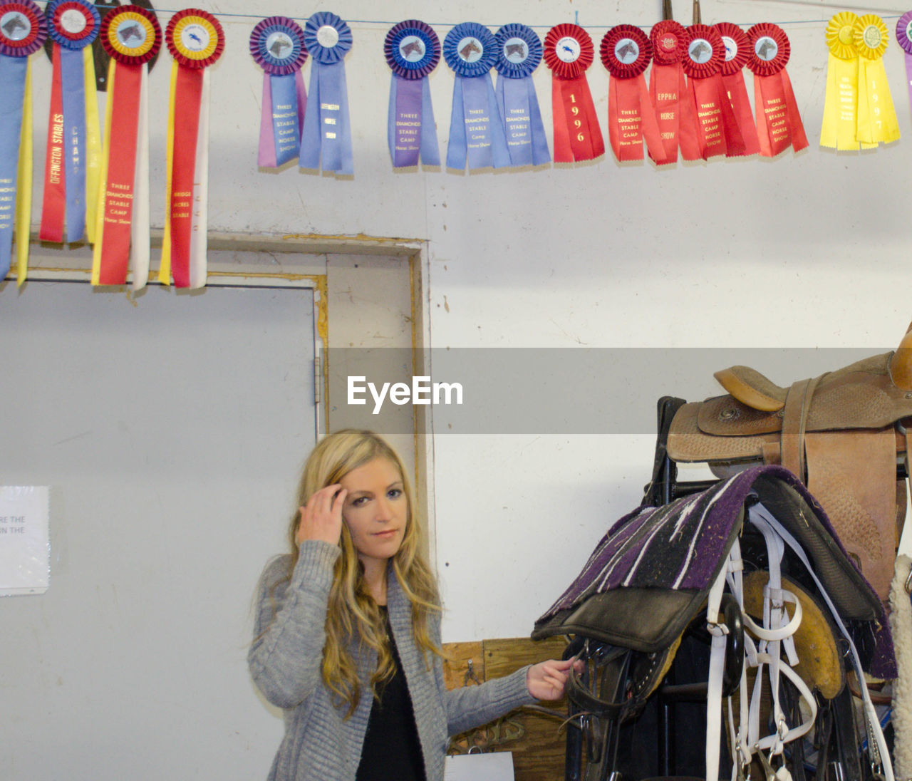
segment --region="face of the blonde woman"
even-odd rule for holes
[[[402,475],[395,463],[375,458],[345,475],[342,518],[365,568],[395,556],[409,516]]]

